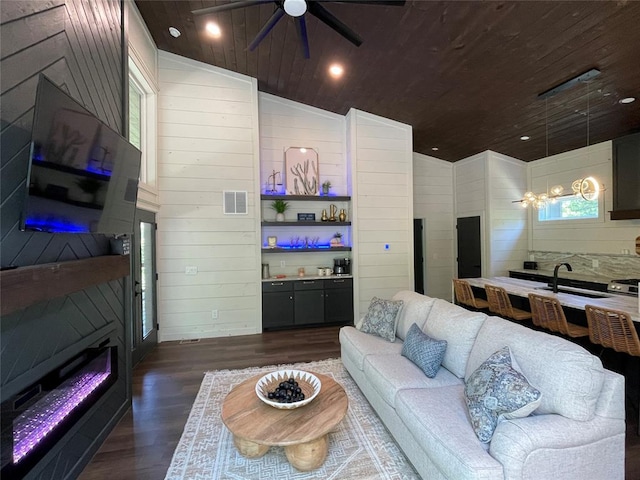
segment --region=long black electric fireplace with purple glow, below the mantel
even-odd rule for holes
[[[25,476],[115,383],[117,363],[106,340],[5,400],[1,476]]]

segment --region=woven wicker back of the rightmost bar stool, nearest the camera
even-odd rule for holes
[[[591,343],[640,357],[638,332],[628,313],[594,305],[585,305],[584,310]]]

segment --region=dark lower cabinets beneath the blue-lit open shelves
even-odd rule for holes
[[[262,328],[353,324],[353,279],[262,283]]]

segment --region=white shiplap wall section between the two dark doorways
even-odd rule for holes
[[[452,163],[413,154],[413,216],[424,221],[425,293],[451,300],[455,265]]]

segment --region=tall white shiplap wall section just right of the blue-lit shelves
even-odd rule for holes
[[[347,114],[356,318],[371,298],[413,290],[411,126],[359,110]],[[384,245],[390,246],[389,250]]]

